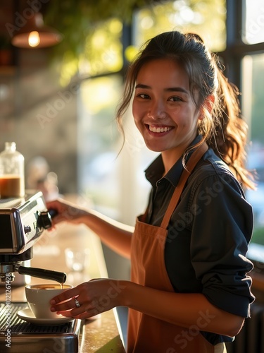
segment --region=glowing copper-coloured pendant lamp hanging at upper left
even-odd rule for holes
[[[58,44],[62,35],[44,25],[42,13],[34,13],[27,23],[13,36],[11,43],[20,48],[44,48]]]

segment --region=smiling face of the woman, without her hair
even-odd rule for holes
[[[187,73],[170,59],[155,59],[142,66],[132,112],[146,146],[177,157],[196,137],[201,119],[191,98]]]

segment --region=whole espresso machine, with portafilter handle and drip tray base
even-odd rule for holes
[[[8,275],[5,288],[11,283],[11,294],[15,273],[65,282],[65,273],[22,265],[33,257],[33,246],[51,227],[53,215],[40,191],[26,193],[24,198],[0,199],[0,277],[4,284]],[[80,320],[51,326],[27,323],[17,316],[27,303],[10,302],[10,297],[0,302],[1,353],[58,352],[56,347],[61,353],[79,352]]]

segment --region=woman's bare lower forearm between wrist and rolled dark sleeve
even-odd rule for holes
[[[123,288],[120,305],[182,326],[187,333],[202,330],[232,337],[244,323],[244,318],[218,309],[200,293],[164,292],[133,282],[119,282]]]

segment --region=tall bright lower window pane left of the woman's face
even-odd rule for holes
[[[118,75],[84,80],[78,114],[78,189],[89,201],[117,217],[120,136],[114,124],[122,90]]]

